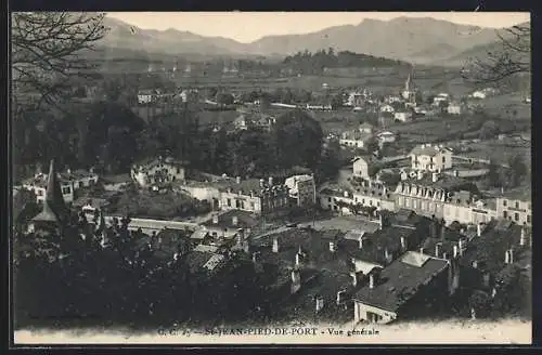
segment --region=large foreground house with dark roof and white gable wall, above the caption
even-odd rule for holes
[[[408,251],[354,294],[354,323],[388,324],[409,318],[449,294],[450,261]],[[423,287],[422,287],[423,286]]]

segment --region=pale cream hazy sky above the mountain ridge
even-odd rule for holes
[[[143,29],[176,28],[203,36],[250,42],[268,35],[307,34],[357,25],[364,18],[434,17],[481,27],[508,27],[530,19],[527,12],[109,12],[108,16]]]

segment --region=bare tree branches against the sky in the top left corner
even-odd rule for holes
[[[106,34],[103,13],[26,12],[12,15],[13,95],[34,93],[42,103],[69,97],[73,80],[94,66],[80,54]]]

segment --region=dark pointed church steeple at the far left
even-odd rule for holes
[[[55,169],[54,159],[49,166],[49,175],[47,181],[46,199],[43,200],[43,210],[33,220],[35,222],[52,222],[63,224],[67,221],[68,210],[62,195],[59,175]]]

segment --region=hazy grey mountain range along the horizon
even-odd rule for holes
[[[333,48],[418,64],[461,65],[468,55],[499,42],[494,28],[459,25],[431,17],[397,17],[390,21],[364,19],[306,35],[267,36],[250,43],[223,37],[206,37],[177,29],[141,29],[116,18],[105,17],[108,34],[100,45],[168,55],[284,56],[299,51]],[[480,53],[478,53],[480,52]],[[450,60],[449,63],[448,60]]]

